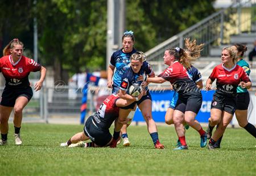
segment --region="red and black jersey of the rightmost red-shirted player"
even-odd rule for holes
[[[217,65],[209,77],[212,81],[217,79],[216,93],[220,95],[236,96],[237,87],[241,81],[250,82],[245,70],[239,65],[234,65],[232,69],[225,68],[223,64]]]

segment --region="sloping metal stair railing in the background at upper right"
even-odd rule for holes
[[[245,16],[241,15],[242,7],[249,11]],[[186,37],[196,39],[198,43],[204,43],[205,47],[201,55],[208,56],[210,45],[229,43],[230,35],[251,31],[251,26],[256,23],[256,19],[254,19],[256,15],[255,7],[255,0],[234,1],[227,9],[215,12],[187,30],[172,36],[147,51],[145,53],[147,60],[160,61],[166,49],[171,47],[184,48],[184,38]]]

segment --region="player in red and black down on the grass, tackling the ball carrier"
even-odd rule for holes
[[[143,91],[134,100],[125,100],[119,98],[118,95],[112,94],[104,100],[98,111],[89,116],[84,125],[82,132],[76,133],[66,143],[60,146],[68,147],[104,147],[110,146],[115,148],[119,140],[119,133],[122,125],[128,122],[127,115],[119,112],[119,107],[129,106],[135,100],[141,99]],[[109,132],[109,128],[114,121],[113,136]],[[91,140],[90,143],[83,141]]]

